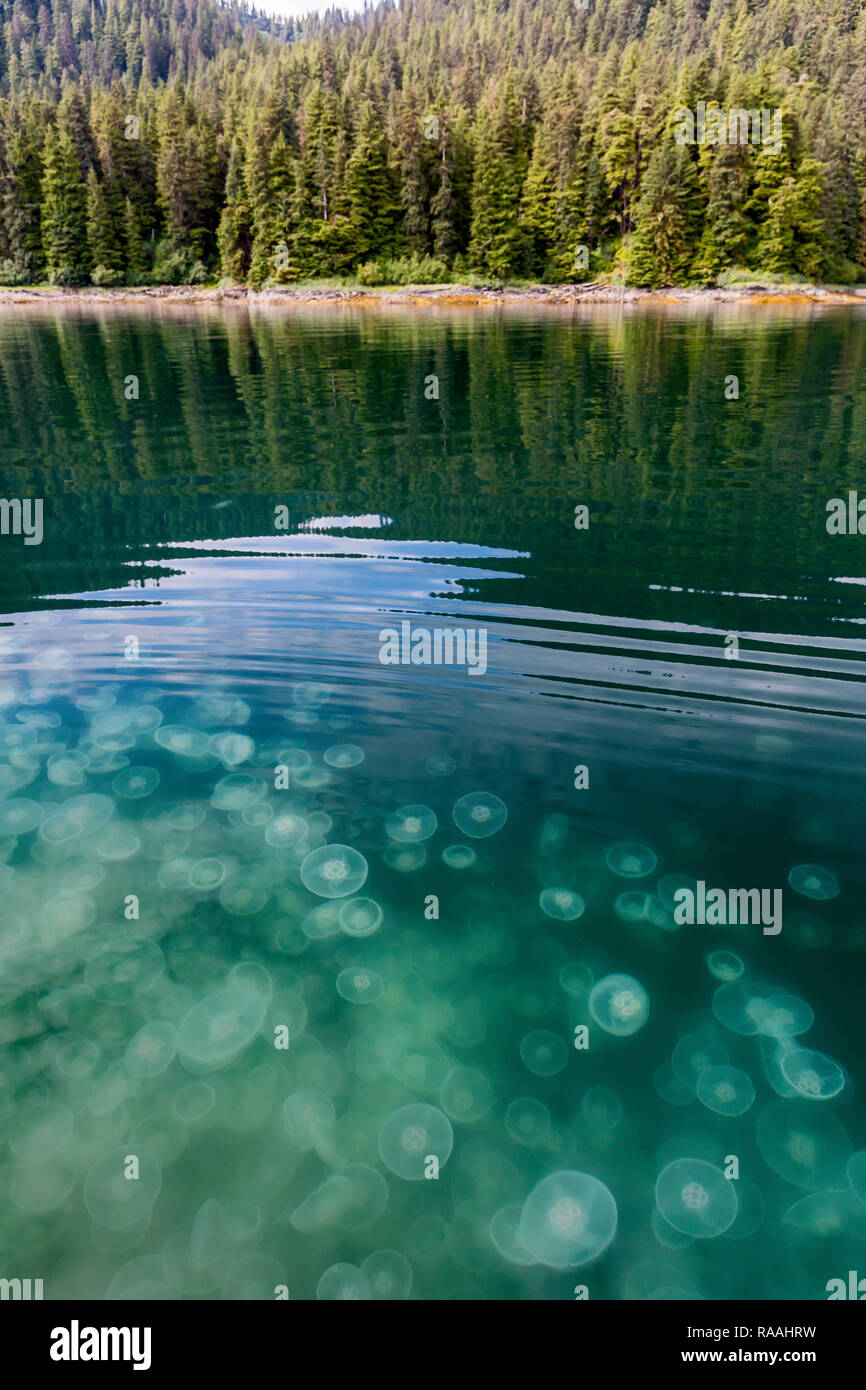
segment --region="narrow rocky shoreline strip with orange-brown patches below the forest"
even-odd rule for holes
[[[702,307],[712,304],[788,304],[788,306],[866,306],[865,286],[773,286],[746,285],[742,288],[721,286],[713,289],[634,289],[627,286],[592,282],[584,285],[532,285],[514,289],[473,289],[466,285],[407,285],[395,289],[328,289],[310,286],[306,289],[246,289],[207,288],[192,285],[153,285],[140,289],[82,289],[0,288],[0,309],[6,306],[154,306],[181,304],[236,304],[249,309],[277,304],[350,304],[367,306],[410,306],[410,307],[571,307],[581,304],[638,304],[645,307]]]

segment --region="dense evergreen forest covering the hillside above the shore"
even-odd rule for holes
[[[735,267],[866,278],[860,0],[0,0],[0,282]]]

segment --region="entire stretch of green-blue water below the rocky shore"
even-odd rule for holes
[[[0,1276],[813,1300],[862,1269],[866,538],[826,506],[866,495],[865,366],[848,313],[0,317],[1,495],[44,503],[40,545],[0,537]],[[384,664],[406,621],[485,660]],[[452,815],[478,791],[487,837]],[[435,831],[395,844],[403,806]],[[366,862],[341,898],[328,844]],[[780,890],[783,930],[677,927],[678,880]],[[610,974],[628,1026],[648,997],[627,1036]],[[708,1059],[742,1113],[695,1097]],[[395,1159],[407,1105],[439,1113]],[[714,1173],[667,1175],[671,1226],[678,1159]],[[584,1179],[524,1209],[555,1172],[613,1238]]]

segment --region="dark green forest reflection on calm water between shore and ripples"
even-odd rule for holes
[[[531,599],[562,609],[612,574],[634,616],[669,616],[651,585],[826,600],[858,573],[823,509],[863,482],[865,341],[855,314],[7,314],[0,495],[44,498],[46,541],[3,539],[0,603],[124,587],[158,542],[274,535],[277,503],[292,530],[374,513],[389,538],[528,552]]]

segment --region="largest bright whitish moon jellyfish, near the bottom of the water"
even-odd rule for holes
[[[616,1236],[616,1202],[589,1173],[550,1173],[532,1188],[520,1213],[523,1245],[550,1269],[577,1269],[607,1248]]]

